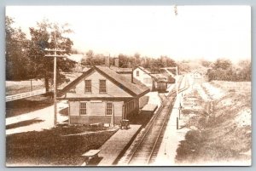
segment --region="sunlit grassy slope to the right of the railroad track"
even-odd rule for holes
[[[177,149],[178,163],[250,163],[251,83],[213,82],[223,98],[213,102],[213,112],[193,112],[191,129]],[[198,96],[198,94],[197,94]],[[199,98],[200,99],[200,98]],[[204,106],[204,101],[201,100]],[[188,114],[189,111],[186,111]]]

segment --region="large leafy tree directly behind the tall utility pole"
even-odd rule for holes
[[[49,20],[43,20],[37,23],[36,27],[30,27],[31,42],[29,44],[29,57],[35,64],[33,67],[33,77],[44,78],[44,86],[46,91],[49,91],[49,83],[52,83],[53,78],[53,58],[45,57],[47,53],[45,48],[61,48],[65,52],[58,52],[63,55],[70,54],[72,51],[73,42],[64,34],[72,32],[67,28],[67,24],[60,26],[57,23],[50,23]],[[57,47],[55,47],[57,45]],[[64,76],[61,71],[71,71],[74,67],[74,62],[57,58],[57,83],[61,83]]]

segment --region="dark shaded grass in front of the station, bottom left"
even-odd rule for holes
[[[103,131],[96,132],[97,130]],[[115,131],[116,129],[69,126],[8,135],[6,163],[8,166],[79,166],[84,162],[81,157],[84,152],[98,149]],[[86,132],[88,134],[81,134]]]

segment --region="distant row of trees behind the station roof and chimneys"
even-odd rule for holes
[[[172,67],[177,66],[175,60],[167,56],[160,56],[160,58],[154,59],[147,56],[141,56],[141,54],[126,55],[119,54],[115,57],[109,58],[109,63],[114,66],[114,58],[119,58],[119,67],[131,68],[135,66],[143,66],[144,68],[150,68],[152,71],[159,71],[161,67]],[[92,50],[89,50],[81,61],[84,66],[90,65],[105,65],[106,56],[103,54],[94,54]]]

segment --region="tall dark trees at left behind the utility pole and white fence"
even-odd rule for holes
[[[65,52],[57,54],[70,54],[72,52],[73,41],[64,34],[72,32],[67,24],[59,25],[51,23],[49,20],[43,20],[37,23],[37,26],[30,27],[30,39],[26,34],[15,28],[15,20],[6,17],[6,80],[20,81],[26,79],[43,79],[45,88],[49,90],[49,84],[53,78],[53,57],[45,57],[45,48],[64,49]],[[71,71],[75,66],[72,60],[57,59],[57,82],[61,83],[65,78],[61,71]]]

